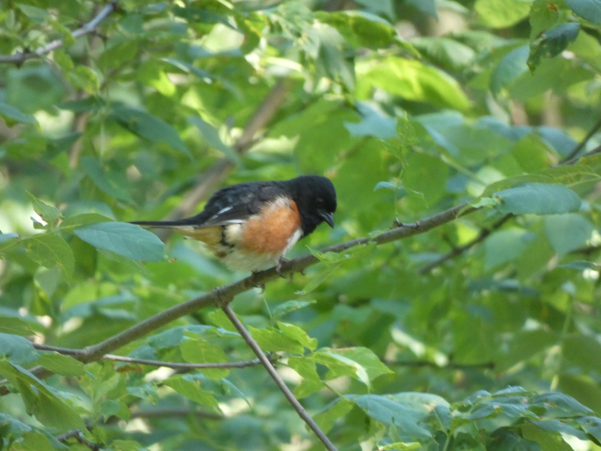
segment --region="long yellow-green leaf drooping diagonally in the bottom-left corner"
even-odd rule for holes
[[[58,431],[87,431],[80,414],[28,370],[0,361],[0,372],[19,390],[27,412],[34,415],[40,423]]]

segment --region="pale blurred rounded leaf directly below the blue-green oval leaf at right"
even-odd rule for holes
[[[577,213],[545,216],[545,235],[560,255],[583,247],[593,235],[594,226]]]

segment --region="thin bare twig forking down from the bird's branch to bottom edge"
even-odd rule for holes
[[[249,346],[249,348],[252,349],[252,352],[254,352],[257,355],[258,359],[261,361],[261,363],[267,370],[267,373],[269,373],[269,375],[273,379],[273,382],[275,382],[275,384],[278,385],[279,390],[282,391],[288,402],[290,402],[294,410],[296,410],[296,413],[299,414],[299,417],[301,417],[301,419],[305,423],[307,423],[307,426],[309,426],[309,428],[311,428],[311,431],[313,431],[314,434],[317,435],[317,438],[319,438],[319,440],[323,443],[326,449],[328,449],[329,451],[335,451],[336,447],[334,446],[334,444],[332,444],[332,442],[329,440],[326,434],[323,433],[322,429],[320,429],[320,427],[317,426],[317,423],[313,421],[313,419],[307,413],[305,408],[302,407],[299,400],[296,399],[296,397],[294,397],[294,394],[292,394],[290,388],[287,387],[282,378],[279,376],[278,372],[275,370],[275,368],[269,361],[269,358],[267,358],[267,356],[257,344],[257,342],[255,342],[255,340],[251,337],[251,334],[246,330],[242,322],[240,322],[240,320],[236,316],[236,313],[234,313],[234,311],[231,309],[230,304],[225,302],[223,305],[221,305],[221,309],[227,315],[228,319],[230,319],[231,324],[233,324],[234,327],[236,327],[236,329],[238,330],[246,344]]]

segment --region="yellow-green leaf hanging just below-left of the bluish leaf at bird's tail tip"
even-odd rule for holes
[[[75,268],[73,251],[63,238],[55,233],[39,233],[24,239],[27,255],[44,268],[60,268],[69,277]]]

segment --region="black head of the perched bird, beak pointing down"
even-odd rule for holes
[[[336,190],[329,179],[322,176],[301,176],[284,183],[301,213],[303,236],[309,235],[322,222],[334,227]]]

